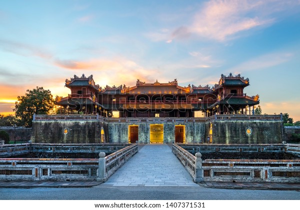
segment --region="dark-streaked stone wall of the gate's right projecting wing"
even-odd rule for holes
[[[283,124],[272,120],[214,120],[212,143],[281,143]]]

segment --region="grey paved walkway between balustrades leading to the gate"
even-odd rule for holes
[[[101,185],[198,186],[167,144],[144,145]]]

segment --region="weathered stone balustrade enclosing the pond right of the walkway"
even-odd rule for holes
[[[185,146],[185,145],[184,145]],[[256,145],[258,146],[258,145]],[[188,145],[190,149],[192,145]],[[204,146],[203,146],[204,147]],[[209,146],[218,150],[217,146]],[[252,147],[252,146],[251,146]],[[297,155],[300,146],[282,144],[281,148],[270,145],[269,151],[285,151]],[[198,147],[200,148],[200,147]],[[242,151],[242,147],[228,145],[231,151]],[[255,147],[254,147],[255,148]],[[259,146],[257,147],[258,150]],[[192,155],[177,144],[172,145],[172,152],[184,165],[195,182],[204,181],[268,181],[300,182],[300,159],[201,159],[199,149]],[[266,149],[267,150],[267,149]],[[265,150],[265,151],[266,151]],[[221,151],[221,150],[219,150]],[[228,149],[226,150],[228,152]],[[254,151],[254,150],[253,150]],[[206,150],[206,152],[209,152]]]

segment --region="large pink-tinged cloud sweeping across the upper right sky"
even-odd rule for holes
[[[295,0],[209,0],[190,19],[186,17],[184,25],[148,33],[148,37],[153,41],[189,37],[226,41],[240,36],[242,31],[273,24],[278,21],[278,12],[297,5],[299,1]]]

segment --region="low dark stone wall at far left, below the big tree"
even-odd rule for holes
[[[0,131],[5,131],[9,135],[9,140],[14,141],[28,141],[31,137],[31,128],[26,127],[0,127]]]

